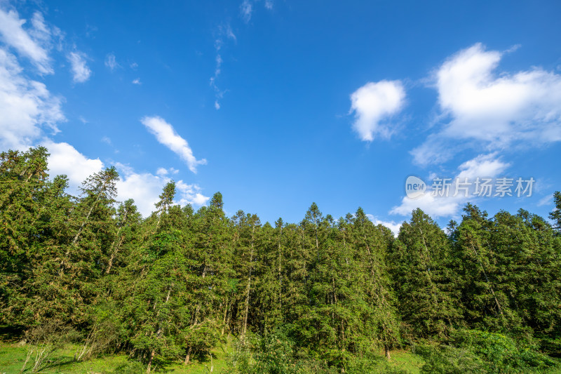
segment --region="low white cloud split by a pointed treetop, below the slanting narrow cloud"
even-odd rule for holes
[[[147,217],[156,210],[154,204],[159,201],[159,195],[163,186],[170,181],[165,168],[158,168],[156,175],[151,173],[135,173],[133,168],[116,163],[116,167],[120,171],[121,179],[117,182],[117,191],[119,201],[134,199],[138,210],[144,217]],[[167,172],[167,171],[166,171]],[[176,196],[175,203],[184,206],[188,203],[194,206],[204,205],[210,198],[201,194],[201,188],[198,185],[187,185],[182,180],[175,183]]]

